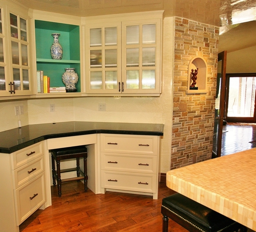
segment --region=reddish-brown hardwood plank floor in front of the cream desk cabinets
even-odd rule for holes
[[[158,200],[151,196],[106,192],[84,192],[81,182],[67,182],[52,188],[52,206],[38,209],[20,225],[20,232],[125,232],[162,231],[162,199],[175,193],[160,182]],[[188,232],[169,220],[169,231]]]

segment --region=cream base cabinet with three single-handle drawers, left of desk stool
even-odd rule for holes
[[[0,156],[4,186],[0,203],[5,208],[1,230],[19,231],[19,225],[46,202],[43,142]]]

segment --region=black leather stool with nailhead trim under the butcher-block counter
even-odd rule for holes
[[[163,232],[168,232],[171,218],[190,232],[233,232],[247,228],[236,221],[202,205],[182,194],[175,193],[162,200]]]

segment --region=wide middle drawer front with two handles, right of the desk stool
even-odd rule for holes
[[[101,169],[157,174],[157,155],[101,152]]]

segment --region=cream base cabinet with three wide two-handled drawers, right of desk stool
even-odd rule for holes
[[[101,134],[101,192],[158,197],[159,136]]]

